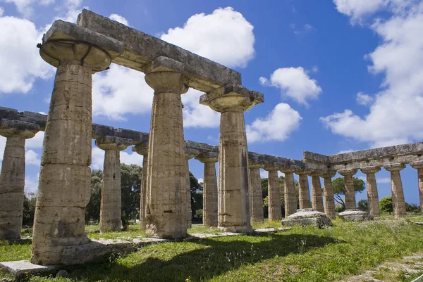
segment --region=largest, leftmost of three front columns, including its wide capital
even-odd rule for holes
[[[122,51],[115,39],[56,21],[40,55],[56,79],[41,159],[32,238],[34,264],[61,264],[63,248],[89,242],[85,206],[90,200],[92,73],[109,68]]]

